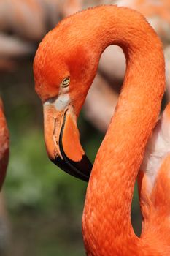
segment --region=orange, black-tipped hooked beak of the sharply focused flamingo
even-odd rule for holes
[[[92,164],[80,144],[77,118],[72,106],[58,111],[44,104],[45,144],[50,160],[66,173],[88,181]]]

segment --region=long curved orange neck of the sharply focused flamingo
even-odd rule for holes
[[[165,86],[161,42],[142,15],[126,8],[88,10],[83,22],[93,24],[89,42],[92,51],[99,49],[98,59],[115,44],[123,48],[127,63],[115,115],[88,184],[82,217],[85,247],[93,256],[145,255],[131,227],[131,200]]]

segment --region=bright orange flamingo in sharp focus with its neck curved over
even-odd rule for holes
[[[80,144],[77,117],[101,53],[112,44],[125,53],[125,79],[92,167]],[[67,173],[89,181],[82,215],[87,255],[168,256],[170,105],[158,121],[165,67],[161,41],[150,24],[139,12],[116,6],[69,16],[40,43],[34,80],[48,156]],[[140,238],[131,225],[138,173]]]

